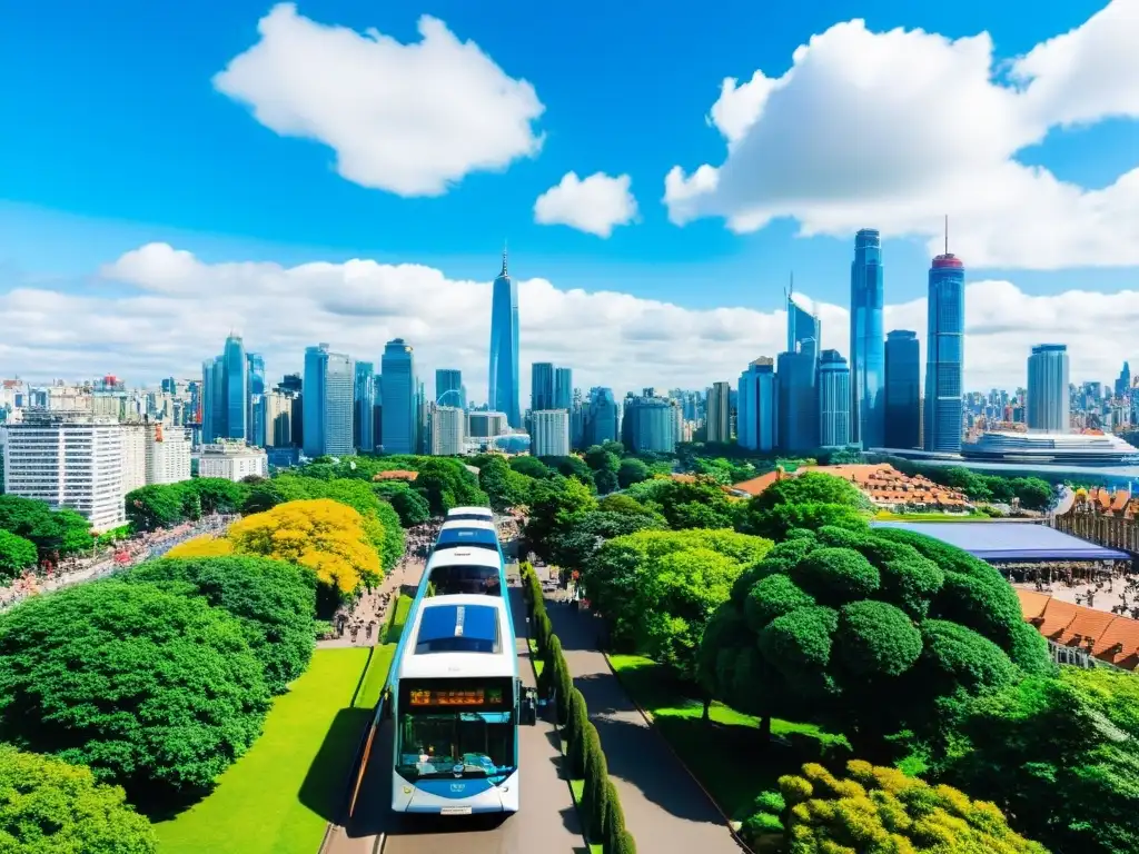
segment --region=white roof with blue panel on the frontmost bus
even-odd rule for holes
[[[403,644],[402,660],[396,671],[398,679],[518,675],[514,633],[507,623],[506,603],[502,599],[468,593],[435,596],[424,599],[417,611],[412,624],[405,630],[410,634]],[[457,637],[458,633],[470,637],[485,635],[493,631],[495,625],[500,641],[498,652],[416,654],[416,646],[423,640]]]

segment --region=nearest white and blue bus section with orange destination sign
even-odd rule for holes
[[[426,580],[425,580],[426,581]],[[532,700],[518,679],[510,615],[485,593],[421,599],[392,680],[392,810],[470,815],[518,811],[518,724]]]

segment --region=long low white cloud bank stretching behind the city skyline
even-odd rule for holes
[[[196,376],[237,330],[264,354],[276,381],[301,369],[311,344],[328,342],[378,368],[384,343],[399,336],[415,346],[428,389],[435,368],[460,368],[472,399],[486,395],[489,279],[451,280],[419,264],[372,261],[207,264],[165,244],[129,252],[100,276],[131,286],[129,295],[122,286],[0,294],[0,366],[31,380],[109,372],[153,384]],[[735,383],[748,362],[786,343],[782,311],[696,311],[616,291],[559,290],[541,278],[521,280],[518,301],[524,394],[535,361],[573,368],[582,388],[703,388]],[[822,345],[846,353],[846,310],[805,297],[804,304],[820,315]],[[1023,385],[1031,345],[1057,338],[1068,344],[1073,381],[1113,379],[1137,355],[1139,291],[1030,296],[1007,281],[981,281],[968,286],[966,305],[970,389]],[[924,299],[887,306],[886,329],[898,328],[925,336]]]

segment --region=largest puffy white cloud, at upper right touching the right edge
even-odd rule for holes
[[[836,24],[782,76],[723,82],[707,121],[727,157],[669,172],[670,217],[740,232],[794,217],[803,235],[838,237],[870,225],[940,251],[949,214],[951,248],[974,266],[1139,264],[1139,167],[1088,189],[1015,159],[1054,128],[1139,118],[1137,43],[1139,0],[995,71],[988,33]]]

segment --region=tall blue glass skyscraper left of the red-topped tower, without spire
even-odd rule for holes
[[[882,238],[876,229],[854,236],[851,262],[851,441],[882,447],[886,428],[885,285]]]

